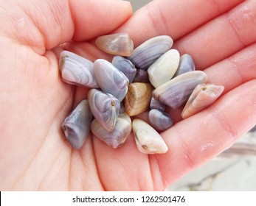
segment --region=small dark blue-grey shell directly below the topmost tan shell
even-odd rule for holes
[[[123,74],[125,74],[125,76],[129,79],[130,83],[133,82],[136,74],[136,68],[130,60],[124,57],[114,56],[112,64],[120,71],[122,71]]]

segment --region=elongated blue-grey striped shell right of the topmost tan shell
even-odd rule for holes
[[[162,35],[146,40],[136,47],[130,57],[136,68],[147,70],[159,57],[173,46],[170,36]]]

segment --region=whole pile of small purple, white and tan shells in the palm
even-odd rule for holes
[[[172,126],[165,107],[184,105],[188,118],[218,99],[224,86],[207,84],[207,75],[195,71],[189,54],[180,57],[170,49],[167,35],[151,38],[134,49],[126,33],[105,35],[96,45],[114,56],[112,63],[98,59],[92,63],[70,51],[60,54],[64,82],[90,88],[87,99],[75,107],[61,125],[66,140],[80,149],[91,131],[108,146],[125,143],[131,130],[136,146],[145,154],[165,153],[168,148],[159,132]],[[131,116],[149,111],[150,124]],[[94,117],[94,119],[93,119]]]

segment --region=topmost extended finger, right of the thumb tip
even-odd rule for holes
[[[151,1],[116,32],[128,32],[135,45],[156,35],[170,35],[176,40],[242,1]]]

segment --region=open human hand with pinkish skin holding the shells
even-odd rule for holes
[[[162,132],[166,154],[141,154],[132,135],[119,149],[92,136],[72,149],[60,124],[87,90],[61,81],[58,45],[76,40],[65,49],[110,59],[91,39],[112,32],[131,10],[115,1],[33,2],[2,6],[1,190],[163,190],[255,124],[255,1],[158,0],[115,32],[128,32],[136,46],[170,35],[173,47],[190,54],[209,82],[225,86],[224,95],[186,120],[169,110],[176,124]]]

